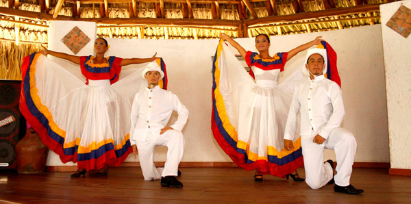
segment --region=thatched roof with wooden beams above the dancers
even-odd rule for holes
[[[296,34],[379,23],[379,4],[387,1],[0,0],[0,39],[47,43],[56,20],[95,21],[97,35],[110,38]]]

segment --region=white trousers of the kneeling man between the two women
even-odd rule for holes
[[[160,136],[147,133],[145,142],[137,141],[136,144],[142,176],[146,181],[166,176],[177,176],[178,164],[182,160],[184,152],[184,137],[181,131],[170,129]],[[167,146],[168,148],[164,168],[155,168],[153,162],[155,146]]]

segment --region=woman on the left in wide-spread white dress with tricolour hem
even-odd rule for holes
[[[23,64],[22,112],[62,162],[77,162],[71,177],[95,169],[96,175],[107,175],[108,165],[119,166],[132,153],[129,114],[144,81],[138,74],[116,81],[121,66],[151,62],[156,53],[145,59],[105,58],[108,47],[105,39],[97,38],[95,56],[77,57],[45,47],[40,51],[79,64],[88,86],[40,53],[29,55]]]

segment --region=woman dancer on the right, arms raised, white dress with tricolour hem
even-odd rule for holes
[[[270,38],[266,34],[256,37],[258,53],[246,51],[238,42],[226,34],[221,34],[221,39],[227,40],[245,59],[251,68],[249,74],[255,78],[255,81],[247,82],[249,80],[243,78],[239,80],[241,84],[233,84],[230,80],[236,81],[237,79],[234,79],[236,76],[233,75],[238,75],[238,73],[226,71],[229,77],[225,79],[223,79],[223,72],[219,75],[219,80],[226,80],[219,83],[231,88],[225,92],[227,94],[221,93],[221,95],[225,95],[222,97],[225,97],[223,103],[228,110],[227,115],[232,114],[228,118],[232,120],[230,123],[235,129],[232,132],[235,132],[236,136],[227,138],[230,133],[224,136],[224,133],[221,133],[224,125],[219,127],[217,124],[213,127],[214,137],[238,166],[246,170],[256,169],[255,181],[262,181],[263,175],[275,175],[287,179],[292,177],[294,181],[304,181],[297,174],[297,168],[303,164],[301,148],[286,151],[283,144],[284,127],[292,99],[292,92],[287,92],[286,89],[293,91],[298,83],[296,84],[295,80],[294,83],[290,83],[290,86],[294,86],[293,88],[282,88],[284,86],[277,86],[277,77],[281,71],[284,71],[284,65],[288,60],[300,51],[319,44],[320,38],[317,37],[311,42],[302,44],[288,53],[277,53],[272,56],[269,54]],[[236,71],[245,72],[243,68]],[[225,89],[225,87],[221,88]],[[218,111],[216,107],[216,112]],[[219,112],[217,114],[219,117],[223,115]],[[213,116],[215,117],[216,114]],[[299,140],[296,142],[299,143]],[[300,143],[296,145],[301,147]]]

